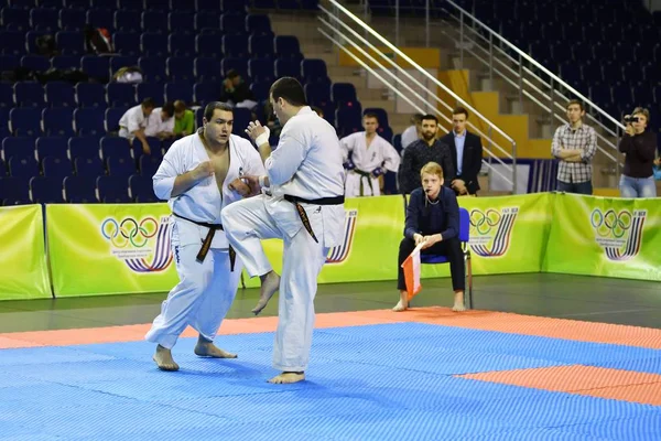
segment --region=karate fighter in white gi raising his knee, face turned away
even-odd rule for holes
[[[250,277],[260,276],[266,305],[278,289],[278,330],[270,383],[305,379],[314,329],[317,277],[330,247],[344,232],[344,169],[335,128],[306,104],[301,84],[291,77],[271,86],[270,101],[283,125],[278,148],[270,153],[269,131],[259,121],[246,132],[256,140],[267,172],[247,176],[253,192],[263,194],[223,209],[227,238]],[[260,239],[284,241],[282,279],[273,271]],[[259,306],[259,305],[258,305]]]

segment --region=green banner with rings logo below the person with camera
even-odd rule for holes
[[[659,200],[554,196],[542,271],[661,280]]]

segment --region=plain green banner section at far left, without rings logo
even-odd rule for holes
[[[0,300],[51,295],[41,205],[0,207]]]

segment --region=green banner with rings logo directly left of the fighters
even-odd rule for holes
[[[47,205],[55,295],[170,291],[169,216],[167,204]]]

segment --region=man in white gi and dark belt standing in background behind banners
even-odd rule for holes
[[[377,133],[377,115],[365,114],[362,127],[365,131],[351,133],[339,140],[344,166],[347,169],[347,197],[379,196],[379,176],[388,170],[397,172],[400,164],[400,155],[394,147]]]

